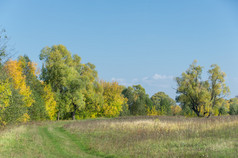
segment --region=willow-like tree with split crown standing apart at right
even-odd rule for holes
[[[189,107],[197,116],[210,116],[215,113],[220,102],[229,93],[225,85],[225,73],[217,65],[212,65],[209,80],[202,81],[202,67],[194,61],[181,77],[177,77],[176,97],[182,107]]]

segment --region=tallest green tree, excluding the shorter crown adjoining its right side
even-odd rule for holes
[[[44,60],[41,79],[50,84],[56,93],[58,120],[63,118],[65,113],[70,112],[75,118],[75,111],[82,105],[82,94],[80,74],[80,57],[75,56],[63,45],[54,45],[51,48],[45,47],[40,54],[40,60]]]

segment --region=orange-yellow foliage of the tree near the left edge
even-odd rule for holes
[[[30,107],[34,100],[31,97],[30,87],[26,85],[25,76],[22,73],[21,61],[9,60],[5,63],[4,68],[8,75],[12,78],[14,88],[19,90],[19,93],[23,96],[23,102],[25,107]],[[30,119],[26,113],[19,118],[19,121],[26,122]]]

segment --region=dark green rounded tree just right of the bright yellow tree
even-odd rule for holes
[[[128,99],[128,108],[131,115],[146,115],[147,107],[153,103],[141,85],[134,85],[123,90],[122,94]]]

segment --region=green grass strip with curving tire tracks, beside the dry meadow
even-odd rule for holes
[[[99,153],[87,147],[87,138],[63,128],[67,122],[53,122],[44,125],[22,126],[24,131],[14,130],[9,138],[0,141],[0,157],[25,158],[96,158],[114,157]],[[0,137],[1,138],[1,137]],[[4,141],[9,142],[4,143]]]

